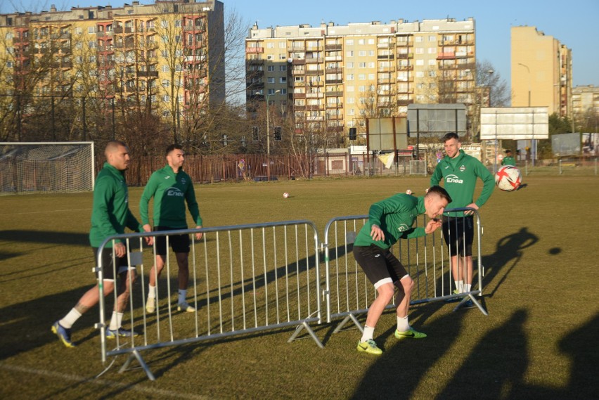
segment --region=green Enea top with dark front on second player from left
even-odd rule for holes
[[[200,208],[195,200],[193,183],[183,169],[175,174],[167,165],[155,171],[143,189],[139,202],[139,214],[142,224],[150,224],[148,218],[148,202],[154,198],[154,226],[169,228],[187,228],[185,202],[196,226],[202,226]]]

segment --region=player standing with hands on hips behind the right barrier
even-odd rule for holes
[[[443,136],[445,157],[430,178],[431,185],[438,185],[443,180],[444,188],[451,195],[453,201],[447,208],[470,207],[479,209],[484,205],[493,189],[495,179],[493,174],[484,167],[482,162],[471,155],[464,153],[460,147],[460,138],[454,132]],[[474,201],[474,191],[477,178],[482,180],[483,186],[479,198]],[[453,214],[443,217],[443,237],[446,245],[451,247],[451,271],[456,284],[454,294],[470,292],[472,288],[472,240],[474,240],[474,218],[472,211]],[[451,243],[449,242],[451,238]],[[458,263],[460,254],[461,263]],[[460,269],[460,266],[465,266]],[[466,306],[472,305],[468,300]]]

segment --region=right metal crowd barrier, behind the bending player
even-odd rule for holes
[[[479,214],[475,209],[455,208],[447,209],[444,215],[455,216],[458,212],[463,211],[472,211],[475,216],[472,263],[473,272],[478,278],[477,290],[470,290],[459,295],[452,293],[455,285],[453,276],[451,276],[451,257],[449,257],[451,249],[442,238],[442,229],[423,238],[399,240],[391,250],[404,264],[414,280],[411,304],[460,299],[454,308],[454,311],[457,311],[470,299],[484,315],[488,315],[476,298],[476,296],[482,295],[484,273],[481,257],[482,224]],[[454,221],[458,221],[459,218],[461,217],[457,217]],[[367,221],[368,215],[351,215],[335,217],[326,224],[323,235],[325,242],[322,245],[325,262],[323,297],[326,299],[326,321],[330,323],[335,318],[344,318],[335,328],[335,333],[339,332],[350,320],[362,330],[361,323],[356,316],[366,314],[368,307],[376,298],[376,291],[372,283],[366,278],[353,254],[356,234]],[[422,226],[425,226],[426,217],[423,216],[421,221]],[[458,262],[459,260],[460,257],[458,257]],[[464,276],[466,266],[463,262],[460,264],[458,264],[458,271],[461,276]],[[394,305],[389,304],[387,308],[394,308]]]

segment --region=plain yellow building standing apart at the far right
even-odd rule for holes
[[[572,51],[536,27],[511,28],[513,107],[548,107],[572,117]]]

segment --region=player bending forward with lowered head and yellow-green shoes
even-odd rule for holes
[[[437,216],[443,214],[449,202],[451,198],[445,189],[433,186],[426,195],[418,198],[407,193],[399,193],[371,205],[368,211],[368,222],[361,228],[354,242],[354,257],[366,273],[368,280],[373,283],[378,296],[368,308],[363,335],[358,342],[358,351],[382,354],[382,350],[373,340],[373,334],[382,311],[393,297],[395,288],[397,288],[395,337],[398,340],[426,337],[425,333],[414,330],[408,323],[408,308],[414,281],[389,247],[400,238],[420,238],[436,231],[441,226]],[[420,214],[427,214],[430,220],[424,228],[413,228],[412,225]]]

